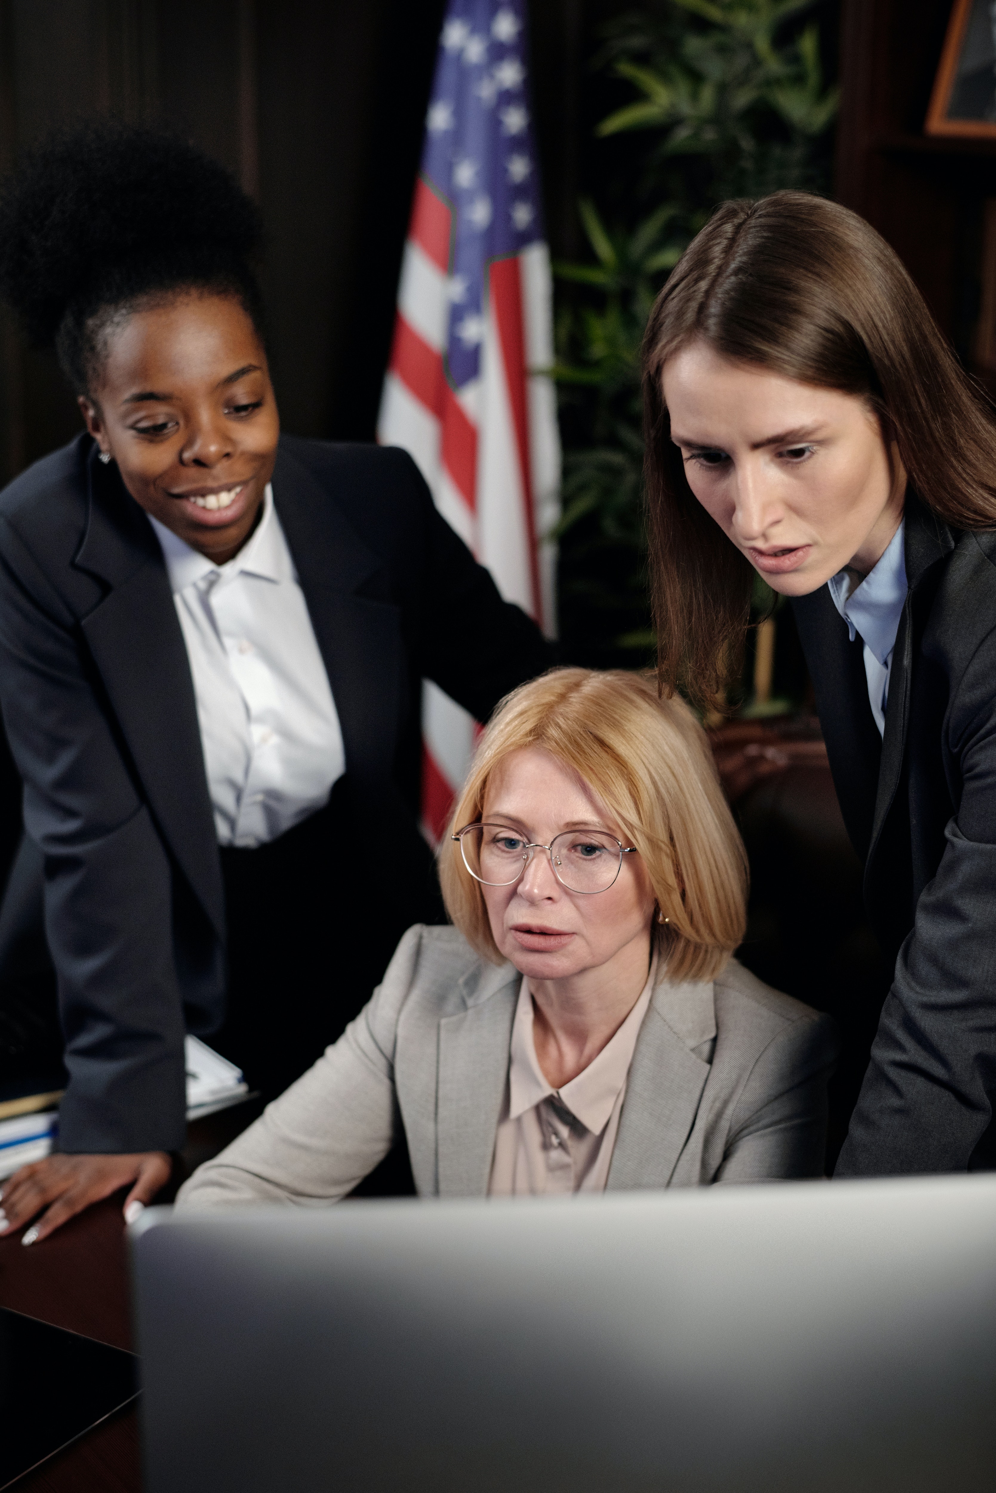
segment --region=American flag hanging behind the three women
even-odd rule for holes
[[[426,116],[378,440],[405,446],[436,506],[554,630],[560,440],[550,254],[529,109],[524,0],[452,0]],[[435,844],[473,721],[423,694],[423,829]]]

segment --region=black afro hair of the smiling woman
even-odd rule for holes
[[[87,393],[102,333],[172,290],[236,296],[263,334],[252,261],[260,212],[217,161],[161,130],[63,130],[0,188],[0,296]]]

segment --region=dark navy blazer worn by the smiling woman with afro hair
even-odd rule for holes
[[[273,497],[336,700],[354,818],[402,826],[394,885],[370,867],[397,938],[438,908],[417,824],[421,678],[487,720],[551,649],[403,451],[284,436]],[[43,872],[58,976],[61,1147],[178,1148],[184,1033],[224,1017],[220,855],[161,551],[88,436],[0,493],[0,705],[24,779],[7,903],[30,909]],[[12,921],[4,908],[9,939]]]

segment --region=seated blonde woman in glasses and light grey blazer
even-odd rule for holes
[[[334,1202],[402,1130],[423,1196],[823,1173],[833,1026],[732,957],[744,847],[679,699],[585,669],[523,685],[439,872],[454,926],[408,930],[364,1011],[181,1206]]]

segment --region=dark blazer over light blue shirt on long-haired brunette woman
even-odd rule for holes
[[[891,990],[838,1176],[963,1172],[996,1088],[996,532],[906,503],[885,736],[826,587],[793,602]]]

